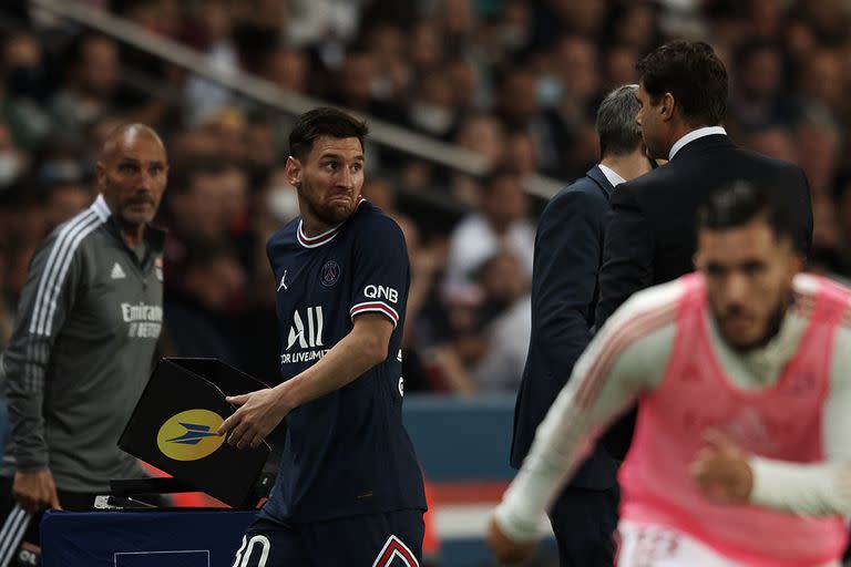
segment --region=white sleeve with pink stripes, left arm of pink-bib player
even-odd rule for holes
[[[605,426],[637,396],[658,386],[673,346],[676,282],[629,299],[591,341],[537,431],[494,518],[515,542],[535,538],[544,512],[591,453]]]

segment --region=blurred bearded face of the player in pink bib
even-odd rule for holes
[[[721,337],[737,350],[766,344],[780,328],[792,278],[801,268],[791,243],[778,241],[762,219],[728,230],[704,229],[698,243],[695,259]]]

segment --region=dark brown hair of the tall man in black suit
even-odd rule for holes
[[[703,41],[671,41],[645,55],[635,69],[653,104],[670,93],[690,126],[715,126],[727,114],[727,70]]]

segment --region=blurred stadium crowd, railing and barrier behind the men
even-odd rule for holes
[[[0,349],[34,248],[92,200],[104,136],[141,121],[172,164],[163,353],[274,380],[286,135],[314,104],[357,111],[365,194],[409,244],[407,420],[437,535],[444,557],[475,547],[511,475],[535,218],[595,163],[603,95],[677,37],[727,64],[734,140],[807,173],[811,268],[851,276],[849,0],[6,0]]]

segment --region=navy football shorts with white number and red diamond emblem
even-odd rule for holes
[[[233,567],[419,567],[422,511],[281,524],[260,515],[243,536]]]

